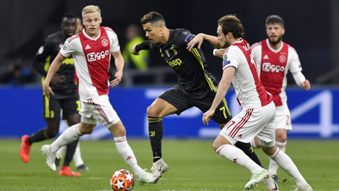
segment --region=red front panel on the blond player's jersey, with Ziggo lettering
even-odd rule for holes
[[[79,33],[79,37],[93,86],[97,89],[99,96],[108,94],[111,43],[106,30],[100,27],[100,37],[96,40],[87,38],[82,32]]]

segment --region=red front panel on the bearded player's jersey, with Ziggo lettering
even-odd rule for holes
[[[274,53],[268,48],[267,40],[262,41],[260,80],[266,91],[273,95],[273,102],[276,107],[282,105],[282,98],[279,94],[282,92],[282,82],[284,81],[288,57],[288,44],[282,43],[282,50]]]

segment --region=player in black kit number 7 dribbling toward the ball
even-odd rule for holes
[[[168,29],[165,19],[158,12],[149,12],[141,19],[140,23],[149,39],[141,44],[136,44],[131,53],[138,55],[141,50],[152,49],[169,64],[178,76],[178,83],[162,93],[147,108],[149,124],[149,138],[153,152],[152,174],[158,180],[161,174],[168,170],[168,165],[163,161],[161,154],[161,140],[163,138],[163,117],[181,112],[190,107],[197,107],[205,112],[210,109],[217,92],[218,83],[208,69],[208,64],[201,49],[187,50],[187,43],[195,36],[189,30],[178,28]],[[203,42],[202,48],[210,53],[214,46]],[[219,104],[212,120],[222,129],[232,118],[227,102]],[[258,165],[262,165],[250,143],[238,142],[237,147],[242,149]]]

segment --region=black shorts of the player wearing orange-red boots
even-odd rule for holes
[[[51,96],[48,99],[47,96],[43,95],[42,100],[44,102],[44,111],[42,115],[46,121],[60,120],[60,113],[62,109],[62,119],[65,120],[72,114],[79,113],[80,111],[80,100],[79,96],[70,98],[55,99]]]

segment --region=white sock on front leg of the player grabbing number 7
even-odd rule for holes
[[[241,149],[232,145],[221,145],[217,149],[217,154],[227,158],[229,161],[237,163],[250,170],[251,173],[262,170],[262,167],[257,165],[250,157],[248,157]]]

